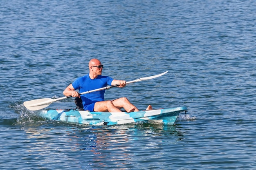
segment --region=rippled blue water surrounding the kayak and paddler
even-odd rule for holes
[[[2,0],[2,169],[255,169],[256,2]],[[44,120],[24,101],[63,97],[98,58],[106,91],[138,108],[186,106],[175,126]],[[73,99],[47,109],[74,107]],[[196,117],[196,118],[195,118]]]

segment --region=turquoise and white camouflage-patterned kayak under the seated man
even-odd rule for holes
[[[79,109],[43,110],[42,117],[50,120],[65,121],[86,125],[117,125],[135,122],[175,124],[180,112],[186,113],[186,107],[144,110],[138,112],[90,112]]]

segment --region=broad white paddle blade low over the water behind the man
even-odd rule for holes
[[[47,106],[52,104],[52,102],[54,101],[55,100],[51,98],[35,99],[35,100],[26,101],[23,103],[23,105],[27,109],[34,111],[34,110],[40,110],[40,109],[46,108]]]

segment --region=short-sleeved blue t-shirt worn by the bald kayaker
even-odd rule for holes
[[[85,91],[91,91],[97,88],[102,88],[102,87],[106,87],[107,85],[111,85],[112,81],[113,79],[108,76],[98,75],[96,79],[91,79],[89,74],[87,74],[83,77],[77,78],[72,83],[72,86],[74,87],[74,89],[79,89],[79,93],[83,93]],[[89,105],[95,102],[104,101],[104,93],[105,93],[105,90],[81,95],[83,106]]]

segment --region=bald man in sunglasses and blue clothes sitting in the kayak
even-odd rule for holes
[[[119,84],[118,87],[126,86],[125,80],[116,80],[108,76],[102,76],[102,69],[103,65],[101,65],[99,60],[90,60],[89,74],[76,79],[72,84],[67,86],[63,91],[63,94],[65,96],[72,95],[72,97],[79,97],[79,93],[75,91],[76,89],[79,89],[79,92],[83,93],[85,91],[106,87],[107,85]],[[104,93],[105,90],[81,95],[83,109],[95,112],[121,112],[121,108],[124,108],[126,112],[139,111],[126,97],[121,97],[112,101],[104,101]],[[146,110],[152,110],[152,106],[149,105]]]

